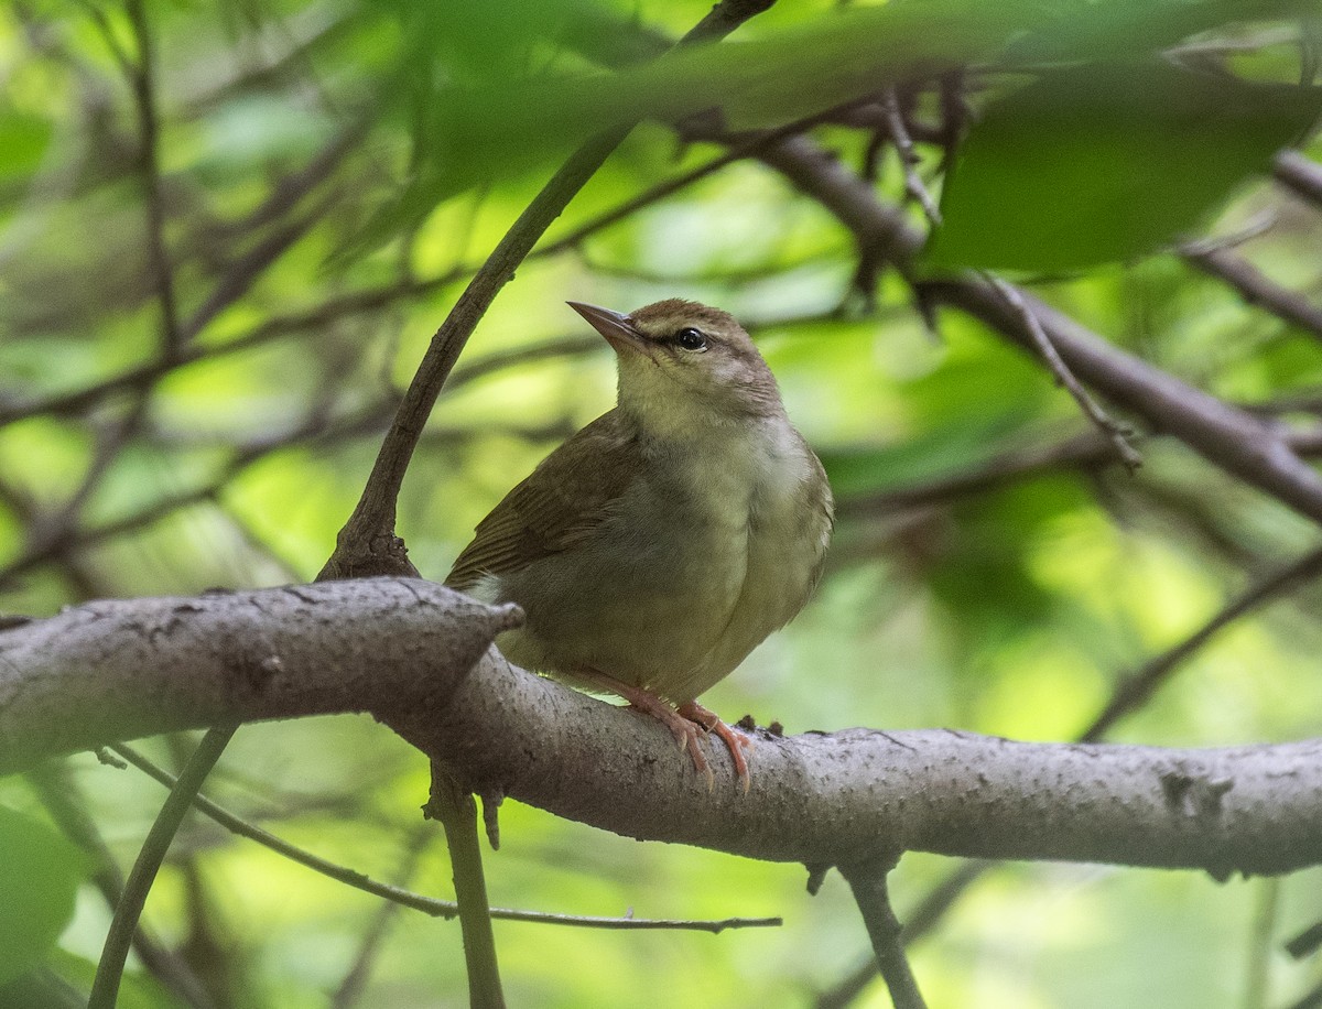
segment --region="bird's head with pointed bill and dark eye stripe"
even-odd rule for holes
[[[629,315],[570,302],[615,348],[620,409],[653,428],[784,413],[776,380],[728,312],[670,298]]]

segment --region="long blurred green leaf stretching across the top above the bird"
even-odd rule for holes
[[[750,41],[683,46],[619,73],[516,74],[508,61],[467,58],[460,61],[464,73],[436,73],[431,83],[416,73],[410,78],[426,91],[414,95],[424,110],[415,175],[383,217],[389,223],[375,230],[420,220],[440,200],[563,156],[619,123],[678,122],[719,108],[735,128],[779,126],[968,63],[1023,67],[1116,52],[1150,53],[1199,30],[1290,16],[1303,5],[1302,0],[894,0],[833,12]],[[453,8],[438,9],[423,37],[452,32]]]

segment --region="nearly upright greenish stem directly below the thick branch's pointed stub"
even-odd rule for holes
[[[446,844],[449,846],[455,899],[459,902],[459,926],[464,935],[469,1006],[502,1009],[505,996],[500,987],[490,903],[486,899],[486,878],[483,874],[477,803],[472,793],[455,780],[448,768],[435,760],[431,764],[431,799],[426,812],[430,819],[440,820],[440,825],[446,829]]]

